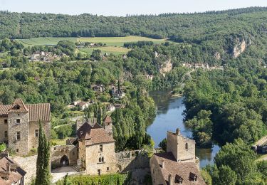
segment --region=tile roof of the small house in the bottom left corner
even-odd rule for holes
[[[16,165],[16,172],[15,171],[7,171],[8,164],[16,164],[14,161],[9,159],[8,157],[4,157],[0,159],[0,172],[3,174],[8,174],[8,179],[4,180],[0,176],[0,184],[9,185],[9,184],[16,184],[23,176],[25,176],[26,171],[21,169],[19,165]]]

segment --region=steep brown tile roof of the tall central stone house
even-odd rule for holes
[[[78,129],[78,137],[85,139],[85,145],[100,144],[106,142],[115,142],[115,140],[108,134],[107,131],[98,123],[93,127],[85,122],[80,129]]]

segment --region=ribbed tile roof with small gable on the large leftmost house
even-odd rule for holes
[[[12,105],[0,105],[0,116],[7,116],[8,113],[28,112],[30,122],[50,122],[51,110],[49,103],[38,103],[24,105],[21,99],[16,99]]]

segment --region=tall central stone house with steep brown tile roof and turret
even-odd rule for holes
[[[112,126],[112,125],[110,125]],[[85,174],[100,175],[117,171],[115,140],[98,123],[85,122],[78,129],[78,163]]]

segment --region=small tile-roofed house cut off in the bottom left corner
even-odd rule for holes
[[[1,185],[24,185],[26,171],[9,157],[0,159],[0,184]]]

